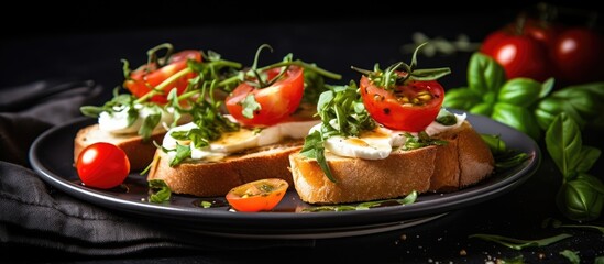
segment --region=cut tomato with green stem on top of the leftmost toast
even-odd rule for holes
[[[157,58],[156,53],[161,48],[166,48],[167,53],[163,58]],[[201,52],[185,50],[172,54],[172,50],[173,47],[169,44],[158,45],[150,50],[147,52],[149,62],[131,73],[125,73],[127,79],[123,86],[138,98],[145,96],[153,89],[161,89],[161,92],[151,98],[151,101],[157,103],[166,103],[167,95],[173,88],[176,88],[178,95],[183,94],[188,86],[188,80],[197,74],[184,72],[183,76],[175,75],[187,68],[189,59],[201,62]]]

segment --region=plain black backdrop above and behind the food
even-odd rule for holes
[[[120,59],[132,67],[146,61],[146,51],[163,42],[176,50],[212,50],[224,58],[251,65],[261,44],[356,78],[350,66],[371,68],[410,61],[400,50],[411,34],[455,40],[465,34],[480,43],[487,33],[509,23],[538,1],[461,4],[457,1],[254,2],[254,1],[78,1],[17,2],[2,15],[0,87],[45,78],[92,79],[109,90],[123,80]],[[601,13],[593,3],[549,1],[569,11],[569,21],[583,24]],[[596,20],[602,29],[602,19]],[[465,84],[470,53],[420,57],[420,67],[450,66],[447,87]],[[261,62],[262,63],[262,62]]]

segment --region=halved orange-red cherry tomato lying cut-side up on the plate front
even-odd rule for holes
[[[227,200],[238,211],[270,211],[279,204],[288,187],[281,178],[259,179],[232,188]]]

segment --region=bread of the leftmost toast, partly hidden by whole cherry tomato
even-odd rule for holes
[[[153,141],[162,142],[165,134],[166,131],[156,130],[147,141],[143,141],[143,138],[136,134],[113,134],[100,130],[98,123],[91,124],[80,129],[74,139],[74,164],[86,146],[95,142],[109,142],[125,152],[130,161],[130,170],[142,170],[151,164],[157,150]]]

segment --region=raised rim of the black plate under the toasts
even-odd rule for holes
[[[101,190],[87,188],[84,186],[76,185],[61,175],[55,175],[51,168],[47,168],[43,165],[43,162],[40,152],[41,145],[50,136],[55,135],[62,130],[74,129],[74,125],[84,125],[86,123],[94,123],[95,119],[88,117],[80,117],[63,124],[55,125],[47,131],[39,135],[32,143],[29,157],[32,164],[32,167],[36,174],[51,186],[59,189],[61,191],[66,193],[67,195],[77,197],[78,199],[85,200],[87,202],[94,204],[96,206],[103,207],[106,209],[114,209],[120,212],[125,212],[132,216],[162,216],[157,219],[160,221],[164,220],[179,220],[185,224],[199,226],[199,223],[219,223],[223,220],[229,220],[230,222],[223,223],[220,227],[240,227],[242,223],[249,226],[252,229],[263,229],[268,226],[267,222],[283,222],[288,221],[288,224],[282,224],[276,227],[276,231],[286,230],[286,229],[304,229],[314,230],[316,228],[329,227],[330,224],[322,224],[321,222],[328,221],[333,224],[336,218],[347,219],[344,226],[351,228],[358,228],[359,226],[372,226],[384,222],[396,222],[404,220],[413,220],[420,218],[429,218],[435,215],[444,213],[451,210],[457,210],[463,207],[469,207],[485,200],[501,196],[515,187],[525,183],[530,178],[537,169],[540,167],[542,160],[541,151],[538,144],[528,135],[510,128],[507,124],[501,123],[493,119],[490,119],[484,116],[476,116],[468,113],[469,119],[481,120],[480,122],[495,122],[501,128],[514,132],[516,135],[524,136],[523,142],[529,143],[527,150],[530,150],[531,154],[530,161],[526,162],[526,166],[521,167],[518,172],[514,173],[509,177],[506,177],[493,185],[487,185],[481,187],[480,184],[477,187],[470,187],[468,189],[453,191],[451,194],[446,194],[444,196],[449,200],[437,198],[431,200],[425,200],[421,202],[410,204],[406,206],[395,206],[395,207],[380,207],[372,208],[370,210],[354,210],[354,211],[327,211],[327,212],[311,212],[311,213],[299,213],[299,212],[254,212],[254,213],[241,213],[232,212],[224,210],[191,210],[190,208],[180,208],[180,207],[169,207],[161,204],[150,204],[150,202],[135,202],[132,200],[124,200],[119,197],[112,197],[103,194]],[[471,121],[475,122],[475,121]],[[476,127],[476,131],[481,131]],[[502,138],[504,134],[502,134]],[[72,156],[73,157],[73,156]],[[451,201],[452,199],[452,201]],[[111,205],[108,207],[108,205]],[[431,213],[426,212],[426,207],[430,208]],[[405,208],[402,213],[402,208]],[[295,216],[295,217],[293,217]],[[367,220],[369,218],[378,216],[382,220]],[[261,223],[264,222],[264,223]],[[338,221],[336,221],[337,223]],[[193,228],[199,229],[199,228]],[[212,227],[204,227],[199,230],[211,231]]]

